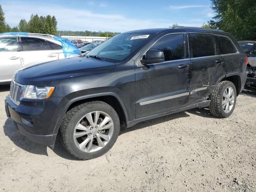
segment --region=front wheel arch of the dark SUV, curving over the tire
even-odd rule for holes
[[[54,134],[58,133],[58,130],[60,128],[60,124],[62,122],[62,119],[64,118],[66,112],[73,108],[74,106],[77,106],[84,102],[90,102],[90,101],[103,101],[109,104],[116,110],[119,118],[120,118],[120,125],[126,126],[128,122],[128,114],[126,111],[126,107],[124,106],[124,102],[122,99],[118,96],[118,94],[114,92],[104,92],[104,93],[97,93],[97,94],[90,94],[86,96],[80,96],[73,98],[68,101],[64,109],[62,110],[62,113],[60,114],[60,118],[58,119],[58,122],[54,128]]]

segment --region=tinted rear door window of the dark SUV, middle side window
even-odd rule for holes
[[[189,34],[189,46],[192,50],[190,57],[205,57],[215,55],[215,46],[212,35]]]

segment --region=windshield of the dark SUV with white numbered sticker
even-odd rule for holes
[[[148,33],[119,34],[100,44],[86,55],[97,55],[107,62],[122,62],[134,55],[152,36]]]

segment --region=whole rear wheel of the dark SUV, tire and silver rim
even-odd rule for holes
[[[236,106],[236,87],[230,81],[222,81],[210,94],[210,100],[210,113],[220,118],[227,118]]]

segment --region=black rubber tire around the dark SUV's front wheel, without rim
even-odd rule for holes
[[[114,131],[112,137],[103,148],[95,152],[83,152],[75,144],[74,129],[76,124],[84,115],[93,111],[102,111],[108,114],[112,118],[114,124]],[[116,142],[119,131],[120,120],[118,114],[116,113],[114,108],[102,101],[87,102],[72,108],[66,113],[60,126],[62,145],[70,154],[82,160],[97,158],[108,152],[108,150],[110,150],[110,148],[112,148],[112,146]]]

